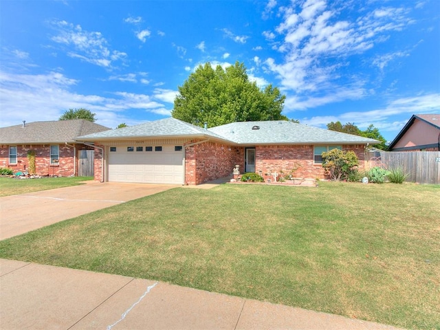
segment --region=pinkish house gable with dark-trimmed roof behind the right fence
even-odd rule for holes
[[[388,151],[440,151],[440,115],[412,115]]]

